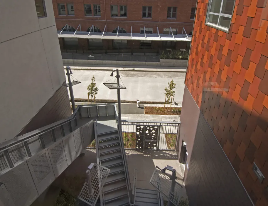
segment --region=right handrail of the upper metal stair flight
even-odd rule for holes
[[[127,167],[127,159],[126,159],[126,152],[125,152],[124,141],[123,141],[123,136],[122,136],[122,129],[120,127],[121,122],[119,123],[119,117],[117,115],[116,115],[116,122],[117,122],[117,129],[118,129],[118,135],[119,135],[119,143],[120,143],[120,147],[122,151],[123,166],[124,166],[125,175],[127,179],[127,192],[129,196],[129,204],[132,205],[133,203],[131,203],[130,199],[133,199],[133,196],[132,196],[132,191],[131,191],[132,189],[130,186],[131,184],[130,184],[129,172],[128,172],[128,167]]]

